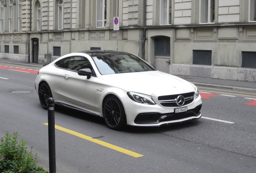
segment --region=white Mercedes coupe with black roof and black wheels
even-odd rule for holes
[[[90,50],[64,55],[36,77],[39,101],[103,117],[111,129],[161,126],[199,119],[197,87],[155,70],[128,52]]]

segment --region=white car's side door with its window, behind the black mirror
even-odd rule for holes
[[[56,62],[56,66],[66,63],[62,72],[62,79],[58,83],[60,93],[66,104],[95,110],[95,86],[97,77],[89,60],[83,56],[72,56],[65,58],[62,62]],[[92,76],[79,76],[77,71],[83,68],[90,68]]]

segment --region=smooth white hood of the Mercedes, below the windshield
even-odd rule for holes
[[[146,95],[173,95],[194,92],[193,85],[177,76],[160,71],[103,75],[106,84]]]

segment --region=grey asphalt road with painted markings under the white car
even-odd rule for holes
[[[47,111],[34,87],[39,68],[19,67],[0,64],[0,136],[18,131],[48,169]],[[99,117],[57,107],[57,172],[254,173],[256,93],[199,89],[203,117],[165,127],[113,131]]]

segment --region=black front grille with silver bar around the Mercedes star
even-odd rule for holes
[[[180,107],[177,105],[177,97],[180,95],[182,95],[185,99],[184,105],[188,105],[194,100],[194,92],[191,92],[178,95],[159,96],[158,101],[164,107]]]

